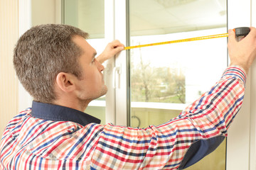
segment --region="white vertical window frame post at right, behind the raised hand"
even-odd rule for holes
[[[250,0],[228,0],[228,29],[250,26]],[[250,76],[245,99],[228,130],[226,169],[249,169],[250,155]],[[242,125],[242,126],[241,126]]]

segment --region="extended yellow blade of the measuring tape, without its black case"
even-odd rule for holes
[[[171,41],[166,41],[166,42],[156,42],[156,43],[151,43],[151,44],[146,44],[146,45],[134,45],[134,46],[124,47],[124,50],[130,50],[130,49],[139,48],[139,47],[149,47],[149,46],[154,46],[154,45],[166,45],[166,44],[172,44],[172,43],[177,43],[177,42],[189,42],[189,41],[207,40],[207,39],[223,38],[223,37],[228,37],[228,33],[207,35],[207,36],[197,37],[197,38],[186,38],[186,39],[181,39],[181,40],[171,40]]]

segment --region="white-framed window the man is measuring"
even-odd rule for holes
[[[68,3],[68,1],[71,3],[70,0],[63,2]],[[70,24],[78,27],[80,27],[78,16],[88,23],[92,21],[93,26],[80,28],[90,33],[91,39],[88,41],[96,48],[98,54],[107,42],[114,39],[130,46],[226,33],[228,28],[251,24],[249,0],[228,1],[228,3],[225,0],[110,0],[106,3],[91,0],[84,2],[87,3],[84,8],[90,8],[83,14],[79,12],[82,10],[79,3],[76,0],[65,5],[65,8],[68,8],[67,6],[73,8],[71,13],[64,14],[65,19],[68,20],[69,15],[75,15],[70,17]],[[93,14],[88,14],[92,9]],[[104,11],[103,16],[102,11]],[[242,12],[238,13],[238,11]],[[101,13],[100,18],[96,17],[98,13]],[[90,17],[94,19],[91,20]],[[101,27],[98,32],[95,28],[97,26]],[[158,125],[174,118],[188,103],[218,81],[228,65],[226,45],[225,38],[218,38],[124,51],[115,60],[105,64],[105,76],[107,76],[105,82],[109,89],[105,96],[106,100],[102,98],[102,101],[90,103],[86,112],[102,119],[102,124],[114,123],[132,127]],[[121,72],[113,73],[113,70],[117,70],[114,67],[121,69]],[[144,75],[142,75],[143,68],[146,70]],[[117,85],[115,89],[113,79]],[[146,81],[148,79],[150,81]],[[255,81],[253,82],[255,84]],[[149,88],[151,88],[150,92]],[[247,89],[253,91],[250,85]],[[250,154],[250,139],[251,142],[255,141],[252,140],[253,137],[250,138],[250,111],[248,111],[250,108],[254,111],[253,107],[250,106],[250,92],[247,92],[244,106],[230,127],[227,145],[223,142],[213,154],[188,169],[209,169],[209,167],[227,170],[249,169],[249,164],[255,167],[253,157],[250,159],[251,162],[248,162],[249,155],[253,156],[255,153]],[[216,155],[220,155],[221,158],[218,159]],[[207,168],[203,165],[206,162]],[[212,162],[215,163],[212,165]]]

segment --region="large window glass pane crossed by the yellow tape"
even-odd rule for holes
[[[224,0],[130,0],[129,19],[130,45],[227,33]],[[145,128],[176,117],[220,79],[227,66],[227,38],[142,47],[129,53],[130,124]],[[188,169],[225,169],[225,142]]]

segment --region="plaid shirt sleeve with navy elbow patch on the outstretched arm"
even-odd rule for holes
[[[159,126],[102,126],[92,169],[183,169],[220,145],[240,110],[245,72],[230,66],[223,77],[177,118]]]

